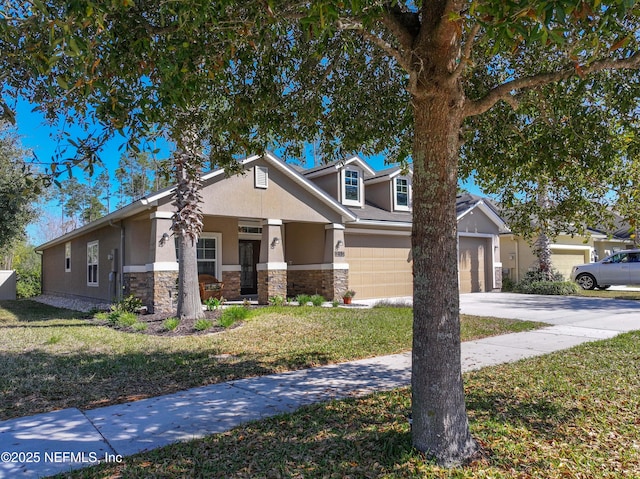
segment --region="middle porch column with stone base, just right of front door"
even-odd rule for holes
[[[287,263],[284,260],[282,220],[262,222],[258,270],[258,302],[268,304],[272,296],[287,296]]]

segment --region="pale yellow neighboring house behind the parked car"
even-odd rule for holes
[[[565,279],[569,279],[573,266],[591,263],[616,251],[633,248],[630,233],[630,226],[618,219],[611,232],[588,228],[584,236],[560,234],[552,239],[551,264]],[[502,235],[500,248],[505,277],[513,281],[520,281],[537,264],[533,248],[520,236]]]

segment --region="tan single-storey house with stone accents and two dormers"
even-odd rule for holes
[[[202,176],[204,229],[198,270],[227,299],[347,288],[358,298],[412,295],[411,171],[376,172],[359,157],[298,171],[271,153],[241,162],[244,174]],[[45,294],[111,301],[133,294],[151,311],[176,304],[172,189],[150,195],[43,244]],[[461,286],[500,288],[504,223],[478,197],[461,197]]]

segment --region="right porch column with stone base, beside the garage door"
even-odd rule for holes
[[[345,258],[344,225],[325,225],[322,295],[338,299],[349,289],[349,264]]]

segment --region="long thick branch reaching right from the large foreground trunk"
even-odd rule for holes
[[[593,62],[591,65],[580,67],[578,65],[553,73],[541,73],[525,78],[518,78],[495,87],[484,98],[475,101],[467,100],[464,106],[464,117],[480,115],[491,109],[500,100],[509,102],[512,92],[530,90],[550,83],[566,80],[575,75],[585,76],[603,70],[625,70],[640,68],[640,52],[636,52],[629,58],[620,60],[606,59]]]

